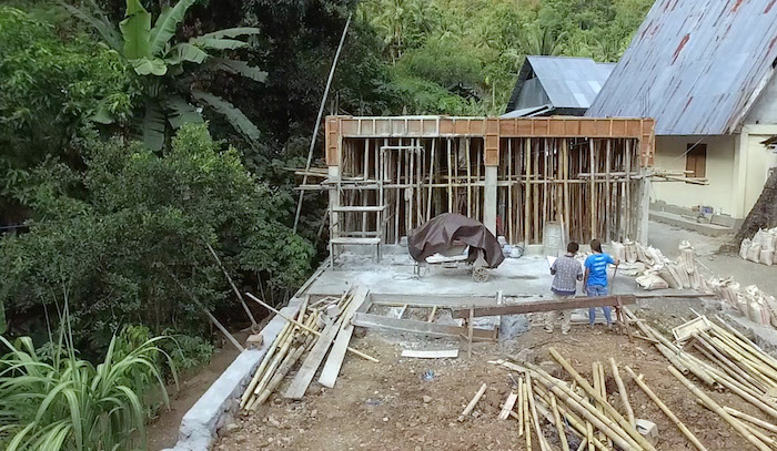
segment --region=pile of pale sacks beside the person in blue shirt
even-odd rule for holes
[[[696,268],[696,253],[688,242],[680,243],[680,255],[675,260],[666,258],[655,247],[643,246],[636,242],[613,242],[612,246],[615,257],[620,260],[618,271],[627,276],[637,276],[636,283],[646,290],[706,287]]]

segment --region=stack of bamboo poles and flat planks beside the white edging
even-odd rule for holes
[[[326,387],[334,386],[346,351],[377,361],[349,347],[353,334],[351,318],[364,303],[366,294],[365,288],[352,287],[340,298],[327,297],[310,305],[307,300],[303,301],[296,318],[286,318],[289,321],[270,345],[241,398],[241,409],[256,410],[281,387],[299,361],[302,363],[284,393],[286,398],[301,399],[304,396],[327,351],[329,359],[320,378]]]

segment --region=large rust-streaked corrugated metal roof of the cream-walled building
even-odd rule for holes
[[[777,64],[777,0],[657,0],[587,116],[658,135],[734,132]]]

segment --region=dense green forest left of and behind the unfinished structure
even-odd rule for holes
[[[87,359],[133,330],[179,337],[193,368],[215,335],[192,296],[245,324],[209,244],[241,288],[287,298],[325,252],[323,196],[292,233],[289,168],[349,16],[327,114],[496,115],[524,55],[617,61],[650,3],[4,1],[0,331],[44,346],[67,308]]]

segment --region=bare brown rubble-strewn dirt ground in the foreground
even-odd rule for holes
[[[688,307],[702,309],[699,301],[654,300],[643,304],[638,315],[666,330],[690,318]],[[553,346],[584,376],[591,375],[594,361],[614,357],[619,363],[632,406],[637,418],[655,422],[659,431],[656,448],[660,451],[693,449],[677,428],[625,375],[624,365],[645,375],[645,381],[710,450],[738,450],[750,447],[715,413],[698,406],[694,396],[666,370],[668,361],[643,340],[629,342],[617,330],[604,326],[589,329],[573,326],[569,335],[547,334],[533,327],[504,344],[476,344],[472,359],[466,346],[457,341],[418,340],[412,336],[386,336],[366,332],[354,338],[352,346],[377,357],[372,363],[349,356],[334,389],[315,381],[302,401],[280,396],[252,414],[238,418],[214,447],[216,450],[524,450],[517,421],[498,421],[500,404],[512,389],[509,371],[488,363],[495,359],[514,359],[523,349],[532,349],[537,362],[552,360]],[[450,349],[460,347],[456,359],[402,358],[406,348]],[[607,365],[607,388],[617,388]],[[433,371],[432,380],[422,377]],[[289,378],[287,378],[289,380]],[[482,383],[485,396],[472,418],[456,419]],[[763,418],[757,409],[740,398],[720,392],[710,396],[722,404]],[[427,398],[424,398],[427,397]],[[619,406],[615,396],[610,402]],[[555,429],[545,424],[546,437],[558,444]],[[533,449],[539,449],[535,440]]]

